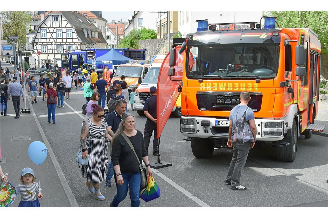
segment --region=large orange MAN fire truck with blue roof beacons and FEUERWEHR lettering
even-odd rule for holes
[[[280,28],[275,19],[197,21],[197,32],[187,34],[179,51],[171,50],[171,68],[177,62],[174,53],[184,54],[180,131],[191,141],[195,157],[227,147],[229,114],[244,90],[251,94],[256,143],[276,145],[278,160],[294,161],[298,139],[324,129],[314,124],[321,63],[318,35],[308,28]],[[197,57],[194,67],[192,55]],[[170,78],[175,76],[171,68]]]

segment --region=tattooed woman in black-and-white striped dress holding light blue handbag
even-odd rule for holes
[[[80,178],[87,178],[87,186],[97,200],[105,200],[100,193],[99,183],[106,180],[108,170],[107,143],[112,140],[104,117],[104,109],[96,104],[93,117],[83,121],[81,130],[82,158],[89,158],[88,165],[82,166]]]

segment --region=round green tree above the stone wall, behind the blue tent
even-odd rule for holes
[[[141,28],[132,30],[128,35],[120,40],[118,47],[120,48],[138,48],[138,41],[145,39],[156,39],[157,34],[155,30],[148,28]]]

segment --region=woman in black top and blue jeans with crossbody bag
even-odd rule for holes
[[[129,144],[125,141],[121,133],[124,132],[131,141],[139,161],[145,162],[148,174],[152,174],[148,160],[148,152],[145,148],[143,135],[134,128],[134,116],[125,113],[122,116],[122,122],[111,142],[112,162],[114,166],[114,179],[116,182],[116,195],[110,203],[110,207],[117,207],[123,201],[128,193],[130,186],[131,207],[139,207],[139,191],[141,182],[141,173],[139,163]]]

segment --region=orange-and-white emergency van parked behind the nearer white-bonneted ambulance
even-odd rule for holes
[[[128,84],[129,93],[132,92],[132,88],[138,88],[142,80],[145,78],[150,64],[141,63],[128,63],[118,65],[115,75],[111,80],[111,86],[115,80],[121,80],[121,75],[125,75],[125,82]]]

